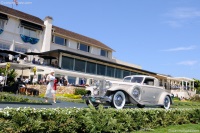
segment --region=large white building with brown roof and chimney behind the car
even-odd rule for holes
[[[3,5],[0,5],[0,49],[54,57],[51,60],[40,58],[42,65],[29,63],[38,70],[44,70],[37,72],[38,79],[54,67],[57,76],[64,75],[71,84],[79,84],[83,77],[89,83],[91,78],[121,80],[128,75],[143,74],[157,77],[168,89],[173,84],[182,88],[194,85],[192,79],[172,78],[114,59],[112,48],[98,40],[54,26],[49,16],[42,20]],[[37,60],[39,57],[34,58]],[[32,59],[33,56],[29,56],[29,60]]]

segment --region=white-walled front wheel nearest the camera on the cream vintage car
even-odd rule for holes
[[[113,95],[111,106],[117,109],[122,109],[125,105],[125,102],[126,102],[126,97],[125,97],[124,92],[117,91]]]

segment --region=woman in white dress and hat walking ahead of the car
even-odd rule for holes
[[[56,103],[56,90],[54,89],[55,82],[55,71],[53,69],[50,70],[50,74],[47,76],[47,81],[49,82],[47,85],[47,90],[45,93],[45,102],[48,102],[48,98],[53,98],[53,102]]]

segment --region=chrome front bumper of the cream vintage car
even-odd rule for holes
[[[97,103],[105,103],[105,102],[111,102],[112,97],[108,96],[82,96],[83,100],[91,100],[92,102]]]

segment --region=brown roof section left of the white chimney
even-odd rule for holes
[[[30,14],[27,14],[27,13],[24,13],[24,12],[21,12],[21,11],[18,11],[18,10],[15,10],[3,5],[0,5],[0,12],[5,13],[7,15],[19,17],[20,19],[23,19],[29,22],[34,22],[39,25],[44,25],[44,21],[38,17],[35,17],[33,15],[30,15]]]

